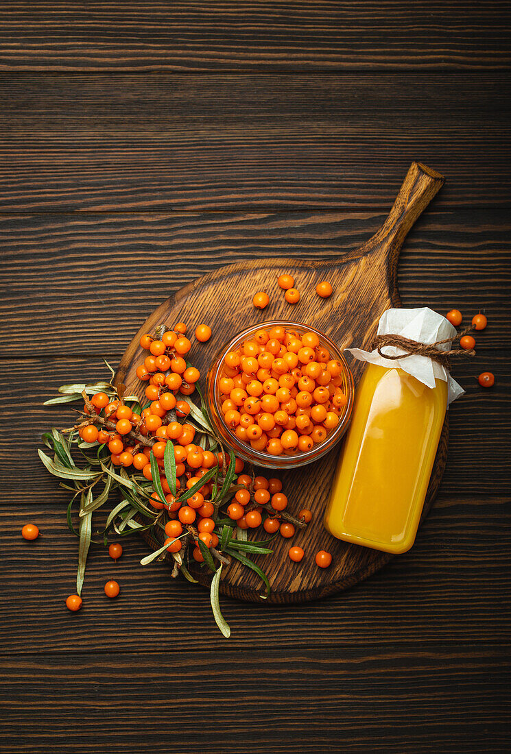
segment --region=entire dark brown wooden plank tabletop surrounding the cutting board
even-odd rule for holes
[[[1,18],[2,751],[509,750],[509,4],[6,0]],[[224,599],[229,641],[137,540],[117,563],[92,550],[66,611],[76,541],[35,455],[61,423],[42,401],[102,377],[205,271],[358,246],[413,159],[447,182],[402,252],[403,303],[489,320],[414,548],[322,602]]]

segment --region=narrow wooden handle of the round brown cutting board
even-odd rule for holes
[[[421,162],[412,162],[389,216],[380,230],[365,244],[365,252],[387,265],[392,302],[399,306],[397,269],[399,252],[411,226],[442,189],[445,178]]]

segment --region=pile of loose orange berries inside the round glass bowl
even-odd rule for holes
[[[343,365],[316,333],[259,329],[223,360],[223,419],[235,436],[270,455],[307,452],[324,442],[347,403]]]

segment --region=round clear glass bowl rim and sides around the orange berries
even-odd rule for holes
[[[303,333],[307,332],[316,333],[319,338],[319,345],[328,350],[331,359],[337,359],[343,365],[343,372],[341,375],[342,383],[340,385],[340,388],[342,388],[344,394],[346,395],[347,403],[345,406],[343,406],[343,409],[340,412],[339,423],[337,424],[337,427],[327,435],[322,443],[316,443],[316,445],[314,445],[310,450],[307,450],[305,452],[291,452],[289,454],[284,452],[282,455],[271,455],[268,452],[255,450],[249,443],[245,443],[242,440],[239,440],[239,438],[236,437],[231,428],[226,425],[226,422],[223,419],[221,406],[223,400],[226,399],[226,396],[220,393],[219,382],[220,378],[223,376],[223,368],[225,366],[224,359],[226,354],[229,351],[235,351],[245,340],[250,340],[252,336],[257,333],[257,330],[269,329],[276,326],[284,326],[286,329],[292,329],[300,336],[302,336]],[[229,342],[227,342],[225,345],[223,345],[222,348],[220,348],[220,351],[218,351],[217,355],[214,357],[213,362],[211,363],[211,367],[208,372],[206,389],[208,396],[208,413],[211,422],[223,443],[225,443],[226,446],[229,446],[229,448],[232,449],[235,455],[239,456],[239,458],[243,458],[245,461],[249,461],[251,464],[254,464],[256,466],[273,469],[297,468],[299,466],[304,466],[305,464],[310,464],[312,463],[312,461],[317,461],[318,458],[322,458],[323,455],[328,453],[335,445],[337,445],[341,437],[343,437],[343,434],[346,432],[346,429],[348,428],[349,419],[352,412],[354,394],[352,373],[349,371],[346,360],[344,359],[343,354],[340,352],[339,348],[337,348],[337,345],[335,345],[335,343],[331,341],[330,338],[325,336],[324,333],[320,333],[319,330],[314,327],[300,322],[288,322],[284,320],[271,320],[248,327],[247,329],[242,330],[241,333],[238,333],[234,338],[229,340]]]

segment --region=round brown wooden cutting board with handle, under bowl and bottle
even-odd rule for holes
[[[389,216],[380,230],[359,249],[343,255],[336,262],[316,262],[314,259],[273,260],[261,250],[260,259],[242,262],[217,269],[200,277],[177,291],[146,320],[128,346],[115,375],[119,384],[124,382],[129,394],[143,396],[145,384],[141,383],[135,369],[146,355],[140,348],[143,333],[150,333],[159,323],[173,326],[186,322],[189,333],[199,323],[207,323],[213,330],[208,343],[192,339],[189,357],[205,376],[217,350],[239,330],[264,320],[295,320],[315,326],[326,333],[340,348],[365,347],[373,339],[380,314],[389,307],[400,306],[396,284],[399,250],[405,236],[420,213],[427,207],[444,182],[443,176],[420,163],[412,163]],[[277,277],[290,273],[300,291],[300,302],[288,304]],[[316,285],[329,280],[334,293],[329,299],[320,299]],[[269,294],[269,305],[263,311],[254,308],[252,297],[257,291]],[[361,375],[363,364],[349,358],[355,382]],[[431,506],[445,467],[448,446],[448,425],[445,423],[423,516]],[[223,569],[221,591],[229,596],[254,602],[302,602],[317,599],[352,586],[389,562],[391,555],[367,547],[346,544],[328,534],[322,525],[322,515],[328,499],[332,475],[337,463],[339,447],[325,458],[301,469],[288,472],[267,471],[267,476],[279,476],[283,490],[288,495],[289,510],[297,512],[302,507],[312,510],[312,522],[305,531],[297,531],[291,540],[278,536],[272,542],[273,553],[259,556],[256,562],[268,575],[272,587],[269,600],[262,600],[264,592],[260,578],[239,562],[233,561]],[[146,532],[145,532],[146,534]],[[253,538],[263,538],[263,529],[252,533]],[[142,535],[144,536],[144,534]],[[160,546],[151,535],[146,540]],[[297,544],[305,550],[300,563],[291,562],[288,550]],[[319,569],[314,562],[318,550],[328,550],[333,556],[331,567]],[[171,556],[169,556],[171,560]],[[174,563],[174,560],[171,560]],[[202,584],[211,577],[194,562],[190,570]]]

